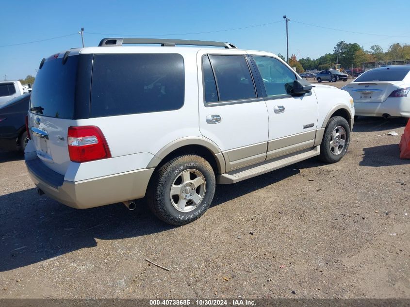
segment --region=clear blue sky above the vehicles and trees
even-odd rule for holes
[[[82,27],[86,47],[97,46],[104,37],[129,35],[225,41],[286,56],[286,15],[291,20],[289,56],[316,59],[332,53],[342,40],[366,50],[377,44],[386,51],[393,43],[410,43],[405,2],[2,0],[0,80],[35,76],[42,58],[81,47],[77,32]],[[26,44],[54,37],[60,38]]]

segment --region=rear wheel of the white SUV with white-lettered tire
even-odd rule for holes
[[[204,158],[196,155],[176,157],[154,173],[147,191],[149,209],[167,224],[191,223],[210,206],[215,183],[213,169]],[[195,193],[190,193],[192,191]]]

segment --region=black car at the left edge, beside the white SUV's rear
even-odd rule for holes
[[[0,108],[0,148],[24,152],[29,141],[26,116],[30,95],[24,94],[6,102]]]

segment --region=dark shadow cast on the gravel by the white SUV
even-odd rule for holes
[[[234,185],[217,185],[212,207],[298,173],[291,165]],[[95,238],[133,238],[174,228],[158,220],[144,199],[136,203],[132,212],[122,204],[77,210],[38,195],[36,189],[0,196],[0,272],[95,247]]]

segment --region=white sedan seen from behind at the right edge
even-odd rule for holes
[[[408,65],[374,68],[342,89],[353,97],[356,115],[410,117],[409,71]]]

